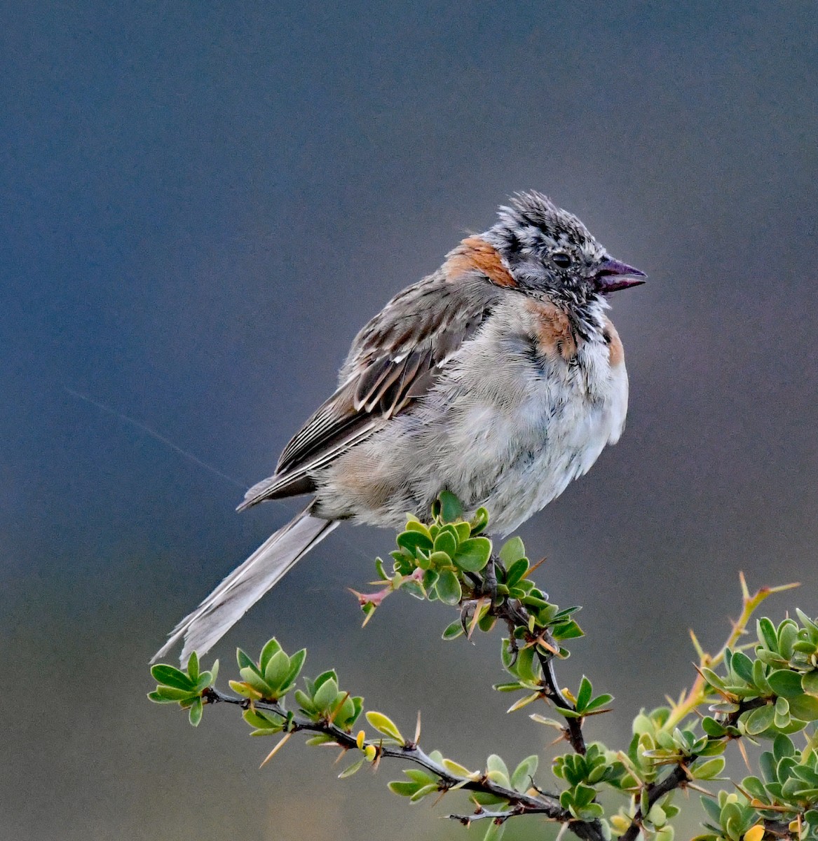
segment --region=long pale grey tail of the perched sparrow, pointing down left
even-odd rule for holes
[[[310,509],[267,538],[240,567],[173,628],[151,663],[164,657],[184,637],[180,657],[187,662],[195,651],[204,654],[301,558],[337,526],[337,521],[311,516]]]

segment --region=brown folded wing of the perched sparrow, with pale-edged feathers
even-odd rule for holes
[[[486,319],[498,291],[480,273],[453,282],[438,270],[397,294],[355,337],[341,386],[284,447],[274,475],[247,491],[239,510],[314,490],[314,471],[431,389]]]

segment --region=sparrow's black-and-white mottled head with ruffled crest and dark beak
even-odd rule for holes
[[[645,283],[645,272],[614,260],[575,215],[542,193],[516,193],[482,238],[497,249],[521,291],[573,315],[611,292]]]

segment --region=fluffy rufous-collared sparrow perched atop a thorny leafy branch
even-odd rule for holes
[[[645,275],[576,216],[518,193],[353,341],[335,394],[239,510],[313,500],[171,632],[207,651],[305,553],[348,520],[397,528],[448,489],[507,533],[619,440],[628,408],[606,296]],[[155,658],[155,659],[156,659]]]

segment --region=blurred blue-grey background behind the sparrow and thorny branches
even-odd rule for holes
[[[233,508],[359,326],[514,190],[650,275],[612,301],[622,442],[522,530],[584,606],[561,680],[616,696],[592,737],[690,683],[740,569],[803,582],[776,618],[818,613],[816,30],[798,0],[9,5],[0,836],[467,837],[454,795],[386,791],[399,766],[337,781],[295,738],[258,770],[235,711],[146,701],[147,660],[297,510]],[[225,678],[275,634],[406,729],[422,709],[428,748],[549,755],[488,690],[497,635],[443,643],[450,612],[406,597],[360,629],[345,588],[392,539],[339,529],[218,646]]]

